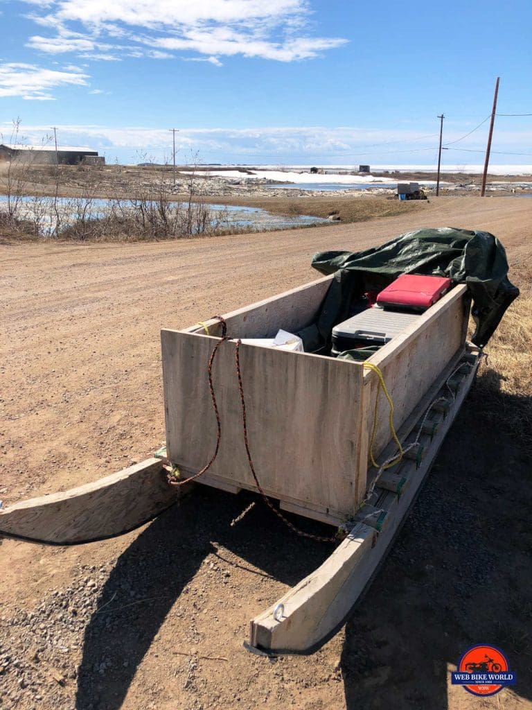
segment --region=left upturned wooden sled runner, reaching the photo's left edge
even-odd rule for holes
[[[101,540],[151,520],[179,491],[168,485],[162,462],[147,459],[85,486],[0,510],[0,533],[56,545]]]

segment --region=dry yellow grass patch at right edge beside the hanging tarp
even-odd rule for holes
[[[511,431],[516,443],[532,453],[532,268],[511,273],[521,295],[509,307],[486,346],[475,397],[497,430]]]

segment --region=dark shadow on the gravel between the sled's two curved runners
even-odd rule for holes
[[[245,516],[244,525],[231,527],[231,520],[251,500],[257,498],[196,486],[191,496],[154,520],[118,558],[101,591],[99,611],[85,630],[77,710],[121,707],[138,665],[179,595],[207,555],[223,557],[215,542],[262,570],[254,574],[291,586],[331,554],[332,545],[292,534],[287,545],[284,523],[261,501]],[[298,520],[298,525],[318,534],[328,530],[312,521]],[[245,562],[232,564],[245,566]],[[130,596],[131,591],[135,596]]]

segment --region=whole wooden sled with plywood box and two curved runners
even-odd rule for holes
[[[331,281],[319,279],[224,316],[228,334],[272,337],[278,327],[291,332],[306,327]],[[347,532],[316,572],[251,621],[251,650],[313,652],[345,623],[475,378],[480,355],[465,345],[468,316],[466,288],[457,286],[370,359],[394,401],[394,427],[407,449],[399,464],[382,473],[367,465],[375,411],[377,460],[392,457],[396,444],[390,443],[388,405],[379,398],[375,371],[319,354],[240,347],[251,449],[262,488],[282,510]],[[221,335],[218,320],[162,331],[167,459],[148,459],[92,484],[0,510],[0,533],[79,544],[133,530],[171,506],[188,486],[170,486],[165,464],[192,476],[216,440],[206,365]],[[220,452],[197,481],[231,493],[257,491],[242,442],[234,344],[221,344],[213,374]]]

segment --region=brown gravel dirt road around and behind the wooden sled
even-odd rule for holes
[[[9,504],[69,488],[152,454],[165,437],[161,327],[317,278],[315,251],[358,251],[419,226],[487,229],[519,264],[530,259],[531,224],[532,200],[462,197],[432,200],[406,218],[270,234],[97,246],[0,241],[0,498]],[[519,272],[512,279],[519,285]],[[443,465],[455,465],[455,447],[474,443],[464,426],[462,417],[440,454],[432,494]],[[416,511],[429,506],[428,495]],[[248,620],[330,550],[293,540],[258,504],[229,528],[245,502],[208,489],[193,498],[118,540],[71,548],[1,542],[3,709],[481,706],[450,686],[448,701],[447,664],[469,633],[485,642],[487,627],[481,616],[480,630],[460,622],[463,599],[453,587],[442,605],[427,601],[448,573],[428,572],[436,564],[432,533],[416,511],[347,632],[313,657],[271,663],[243,650]],[[453,510],[453,497],[446,500],[440,513]],[[448,534],[440,530],[436,556]],[[477,528],[475,535],[485,547]],[[465,599],[487,583],[475,574]],[[109,613],[92,613],[104,604]],[[530,706],[531,697],[529,675],[515,696],[504,691],[504,706]],[[497,699],[482,702],[497,707]]]

